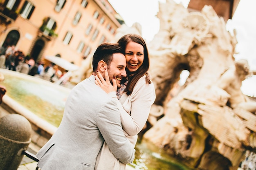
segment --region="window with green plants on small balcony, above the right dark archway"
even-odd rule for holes
[[[52,18],[45,18],[43,25],[40,27],[40,30],[43,31],[44,35],[55,35],[54,30],[56,29],[57,24]]]

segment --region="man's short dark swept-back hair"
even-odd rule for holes
[[[93,71],[97,70],[99,61],[103,60],[109,66],[113,60],[113,54],[122,53],[124,54],[124,49],[117,43],[103,43],[98,46],[92,57],[92,68]]]

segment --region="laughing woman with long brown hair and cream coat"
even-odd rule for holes
[[[110,92],[117,89],[116,95],[112,97],[119,100],[124,133],[135,146],[137,135],[146,124],[150,108],[155,101],[155,88],[148,74],[149,56],[143,38],[136,34],[127,34],[117,43],[125,50],[127,77],[121,80],[121,87],[117,89],[115,82],[120,79],[110,77],[113,82],[111,86],[106,70],[106,80],[99,74],[96,76],[96,84],[110,95],[113,94]],[[114,157],[106,143],[103,144],[97,159],[95,170],[125,170],[126,168],[125,164]]]

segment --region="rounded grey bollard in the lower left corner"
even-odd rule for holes
[[[31,124],[18,114],[0,119],[0,170],[17,170],[31,142]]]

